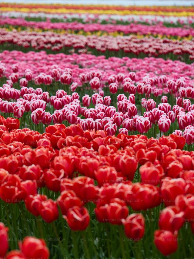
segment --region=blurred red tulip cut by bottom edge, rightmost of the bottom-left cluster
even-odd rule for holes
[[[19,247],[25,258],[49,258],[49,249],[46,247],[45,241],[35,237],[26,237]]]

